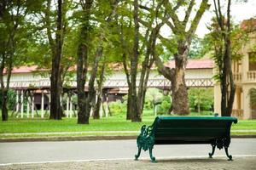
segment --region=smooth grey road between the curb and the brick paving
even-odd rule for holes
[[[256,156],[256,139],[231,139],[232,156]],[[212,151],[210,144],[169,144],[155,145],[153,154],[157,160],[161,157],[193,156],[207,159]],[[131,140],[92,140],[65,142],[9,142],[0,143],[0,164],[33,163],[79,160],[133,159],[137,153],[136,139]],[[214,159],[224,156],[224,150],[216,150]],[[141,157],[149,161],[147,152]]]

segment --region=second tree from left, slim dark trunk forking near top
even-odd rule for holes
[[[67,10],[65,10],[65,0],[58,0],[55,17],[56,28],[53,29],[50,22],[51,0],[47,0],[47,8],[45,13],[45,23],[47,29],[47,37],[51,49],[51,74],[50,74],[50,119],[61,119],[61,56],[64,42],[65,25],[63,20]],[[52,37],[55,30],[55,39]]]

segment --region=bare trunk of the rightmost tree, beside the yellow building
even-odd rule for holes
[[[221,84],[221,116],[231,116],[233,103],[235,99],[236,86],[233,80],[233,73],[231,69],[231,41],[230,41],[230,5],[231,0],[228,1],[227,7],[227,20],[224,20],[224,15],[221,12],[221,4],[213,1],[216,18],[218,20],[218,26],[221,29],[221,38],[224,42],[224,50],[220,48],[218,53],[220,54],[221,64],[219,67],[219,76]],[[223,66],[222,66],[223,65]],[[222,71],[222,72],[221,72]]]

